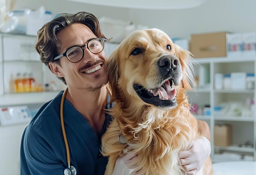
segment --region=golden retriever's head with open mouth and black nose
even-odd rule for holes
[[[122,103],[135,98],[141,105],[172,109],[176,94],[193,81],[190,58],[159,29],[135,31],[108,59],[112,95]]]

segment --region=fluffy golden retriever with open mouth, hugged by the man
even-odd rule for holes
[[[193,82],[191,59],[189,51],[156,28],[133,32],[110,55],[107,71],[115,106],[102,138],[102,153],[109,156],[105,175],[112,175],[128,145],[137,153],[128,173],[185,174],[178,152],[200,137],[186,96]],[[207,158],[197,175],[212,174]]]

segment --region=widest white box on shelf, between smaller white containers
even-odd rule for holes
[[[246,89],[246,73],[245,72],[232,72],[230,75],[231,89]]]

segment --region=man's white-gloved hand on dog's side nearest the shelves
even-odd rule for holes
[[[205,137],[200,137],[189,143],[186,151],[179,152],[180,164],[187,175],[195,175],[201,168],[205,159],[211,153],[211,144]]]

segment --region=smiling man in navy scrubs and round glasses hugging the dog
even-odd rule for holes
[[[105,113],[110,106],[104,40],[108,39],[97,18],[86,12],[63,13],[38,31],[36,50],[41,61],[68,87],[63,118],[70,163],[60,120],[60,92],[40,109],[23,133],[21,175],[61,175],[71,166],[77,175],[104,174],[108,159],[100,153],[101,136],[111,120]],[[202,133],[209,135],[208,126],[203,128]],[[197,153],[197,149],[203,151]],[[209,152],[209,141],[195,140],[188,151],[180,153],[188,175],[200,169]],[[120,157],[113,174],[120,175],[135,157],[133,153]]]

